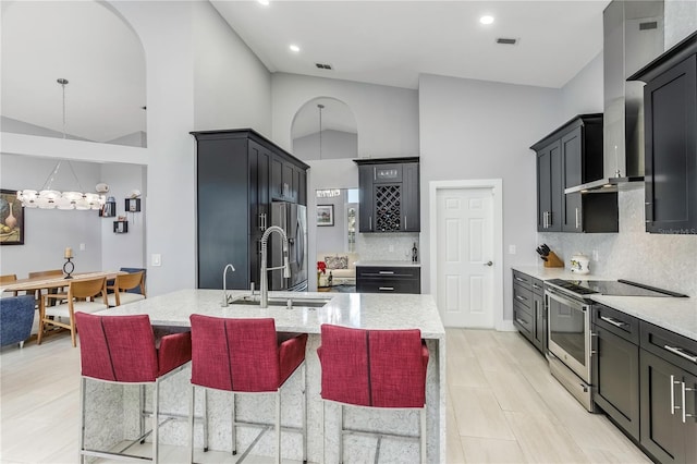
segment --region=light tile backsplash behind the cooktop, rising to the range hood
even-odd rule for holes
[[[644,223],[644,188],[620,191],[620,232],[606,234],[538,233],[539,243],[564,260],[580,252],[590,273],[627,279],[697,297],[697,235],[649,234]]]

